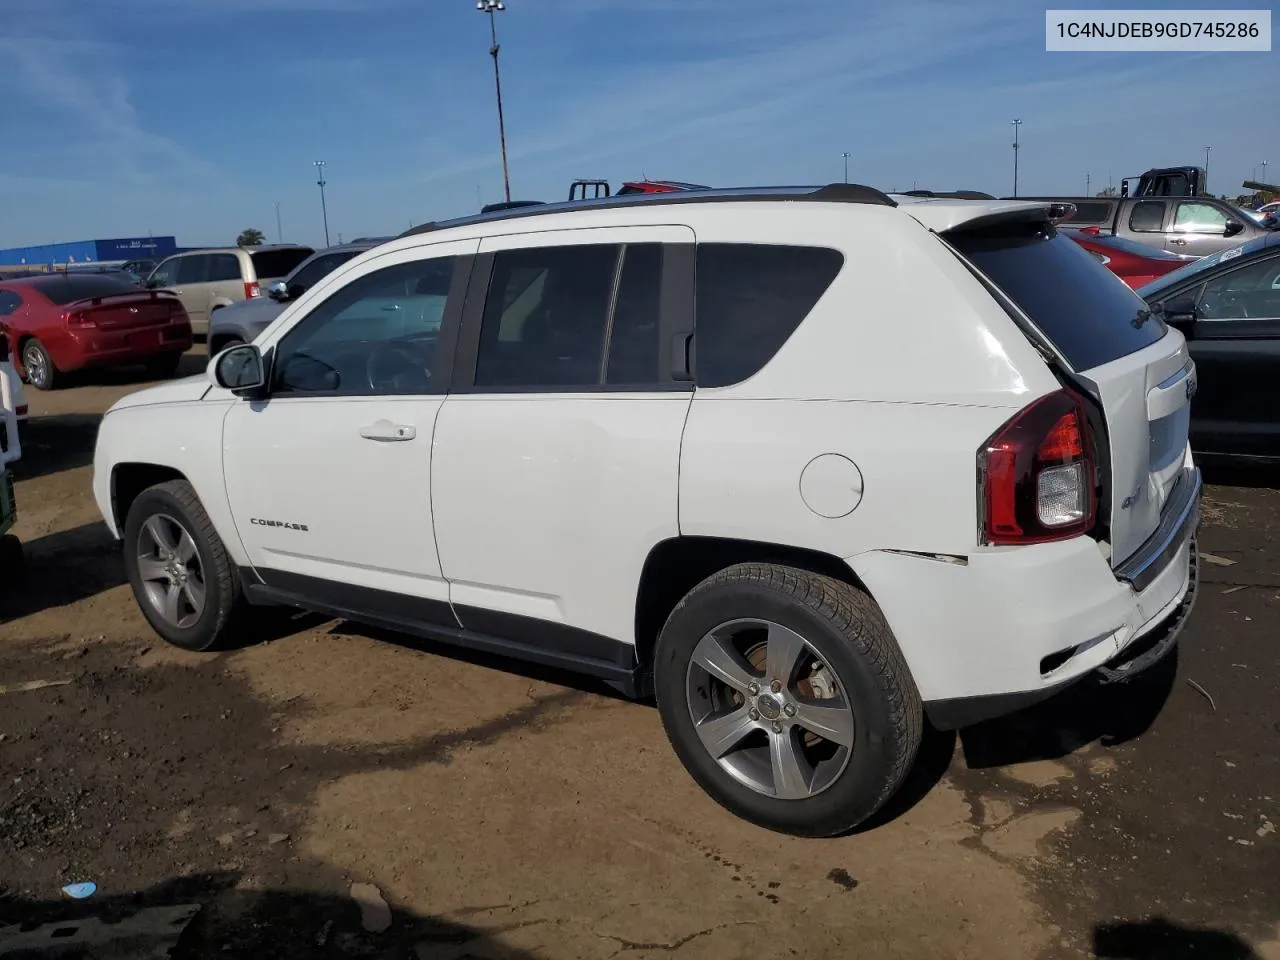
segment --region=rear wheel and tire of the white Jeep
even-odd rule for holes
[[[694,780],[739,817],[827,837],[901,786],[924,726],[920,695],[874,600],[767,563],[694,588],[658,639],[663,726]]]

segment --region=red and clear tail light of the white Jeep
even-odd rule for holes
[[[1097,456],[1084,401],[1059,390],[1000,428],[978,452],[982,541],[1066,540],[1093,527]]]

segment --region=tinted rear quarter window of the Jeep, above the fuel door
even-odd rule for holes
[[[698,244],[698,385],[727,387],[758,374],[844,262],[840,251],[824,247]]]

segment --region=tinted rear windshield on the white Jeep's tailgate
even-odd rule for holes
[[[1147,306],[1142,298],[1047,224],[952,233],[947,241],[1021,307],[1078,371],[1110,364],[1165,335],[1156,316],[1135,326]]]

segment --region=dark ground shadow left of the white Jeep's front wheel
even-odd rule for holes
[[[19,503],[18,509],[22,509]],[[5,577],[0,623],[63,607],[127,582],[119,544],[105,524],[82,524],[23,543],[20,582]]]

